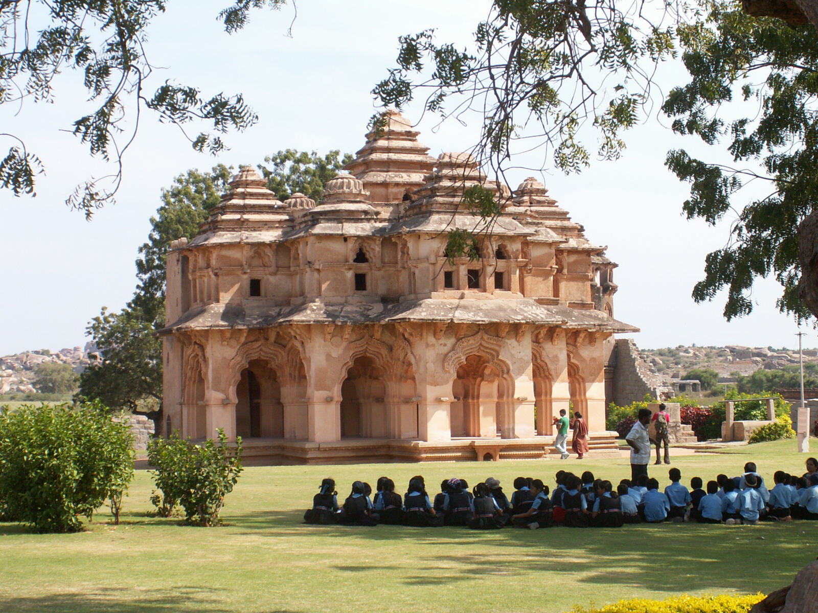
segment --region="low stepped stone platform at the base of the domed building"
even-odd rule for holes
[[[618,457],[616,432],[591,432],[588,455]],[[474,462],[559,458],[554,436],[527,439],[456,438],[445,442],[360,438],[331,443],[253,438],[244,441],[245,466],[392,462]],[[570,441],[569,441],[570,451]]]

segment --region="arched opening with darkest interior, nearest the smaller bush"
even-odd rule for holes
[[[236,385],[236,436],[281,438],[284,405],[276,371],[263,360],[250,360]]]

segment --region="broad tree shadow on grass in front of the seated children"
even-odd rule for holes
[[[389,544],[429,547],[427,567],[418,572],[401,560],[384,564],[335,566],[349,573],[408,570],[405,584],[436,585],[477,576],[524,572],[574,575],[589,588],[618,585],[635,593],[649,588],[667,593],[771,592],[792,582],[815,558],[814,545],[802,533],[807,522],[762,526],[662,524],[622,529],[469,530],[404,526],[312,526],[300,523],[299,512],[256,512],[231,517],[258,538],[297,538],[307,549],[331,543],[362,543],[373,552]],[[475,552],[474,546],[479,547]],[[411,565],[409,565],[411,566]],[[578,575],[578,577],[576,576]]]

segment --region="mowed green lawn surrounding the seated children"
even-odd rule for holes
[[[683,482],[739,474],[753,459],[767,481],[802,474],[794,441],[674,459]],[[247,468],[227,497],[227,526],[147,517],[151,477],[138,471],[120,526],[100,512],[74,535],[0,524],[0,611],[569,611],[627,597],[770,592],[816,558],[818,524],[664,524],[622,530],[476,531],[304,526],[322,477],[343,500],[355,479],[423,474],[470,484],[515,476],[553,484],[560,468],[618,481],[627,459]],[[651,466],[667,484],[667,467]]]

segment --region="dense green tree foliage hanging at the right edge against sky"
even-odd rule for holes
[[[733,2],[708,0],[702,8],[702,20],[679,28],[690,83],[670,92],[663,111],[675,132],[726,146],[734,164],[673,150],[667,167],[690,182],[689,219],[735,221],[728,244],[706,257],[693,297],[712,300],[726,289],[731,320],[753,311],[754,280],[775,275],[784,288],[780,310],[810,317],[798,296],[797,230],[818,197],[818,34],[811,25],[747,16]],[[742,101],[742,116],[726,119],[734,100]],[[750,181],[766,184],[766,194],[744,199],[739,190]]]

